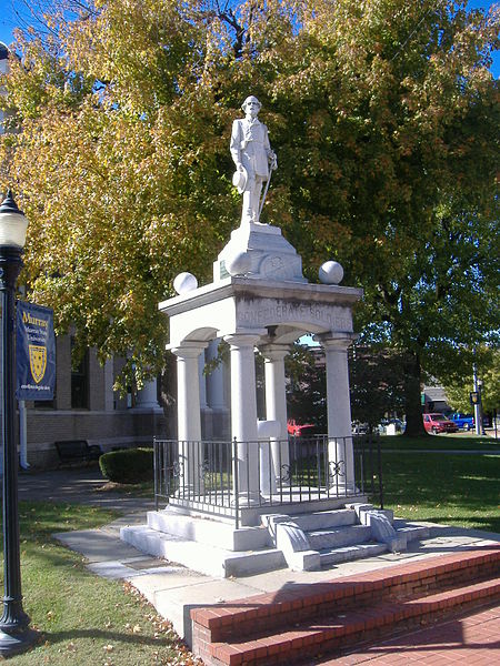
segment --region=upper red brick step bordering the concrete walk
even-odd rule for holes
[[[230,605],[196,608],[191,610],[193,633],[198,630],[208,636],[211,643],[221,642],[328,615],[339,604],[348,609],[371,605],[388,596],[422,596],[440,587],[494,577],[499,571],[499,547],[460,551],[327,583],[296,585],[296,589],[258,595]]]

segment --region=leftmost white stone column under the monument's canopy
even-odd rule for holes
[[[206,346],[202,342],[184,342],[181,346],[170,349],[177,356],[177,438],[181,496],[203,492],[198,359]]]

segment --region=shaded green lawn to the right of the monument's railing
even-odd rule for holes
[[[386,451],[382,474],[394,515],[500,534],[499,455]]]

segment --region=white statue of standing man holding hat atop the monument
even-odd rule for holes
[[[241,104],[244,118],[234,120],[231,133],[231,157],[237,167],[233,184],[243,194],[241,224],[259,223],[262,185],[269,183],[271,170],[277,168],[276,154],[269,144],[268,128],[260,122],[259,100],[250,95]],[[266,196],[267,190],[264,192]]]

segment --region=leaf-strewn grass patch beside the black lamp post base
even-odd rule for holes
[[[117,514],[88,506],[20,504],[24,610],[40,632],[37,647],[9,659],[14,666],[192,665],[170,623],[129,584],[89,573],[78,553],[51,534],[87,529]]]

